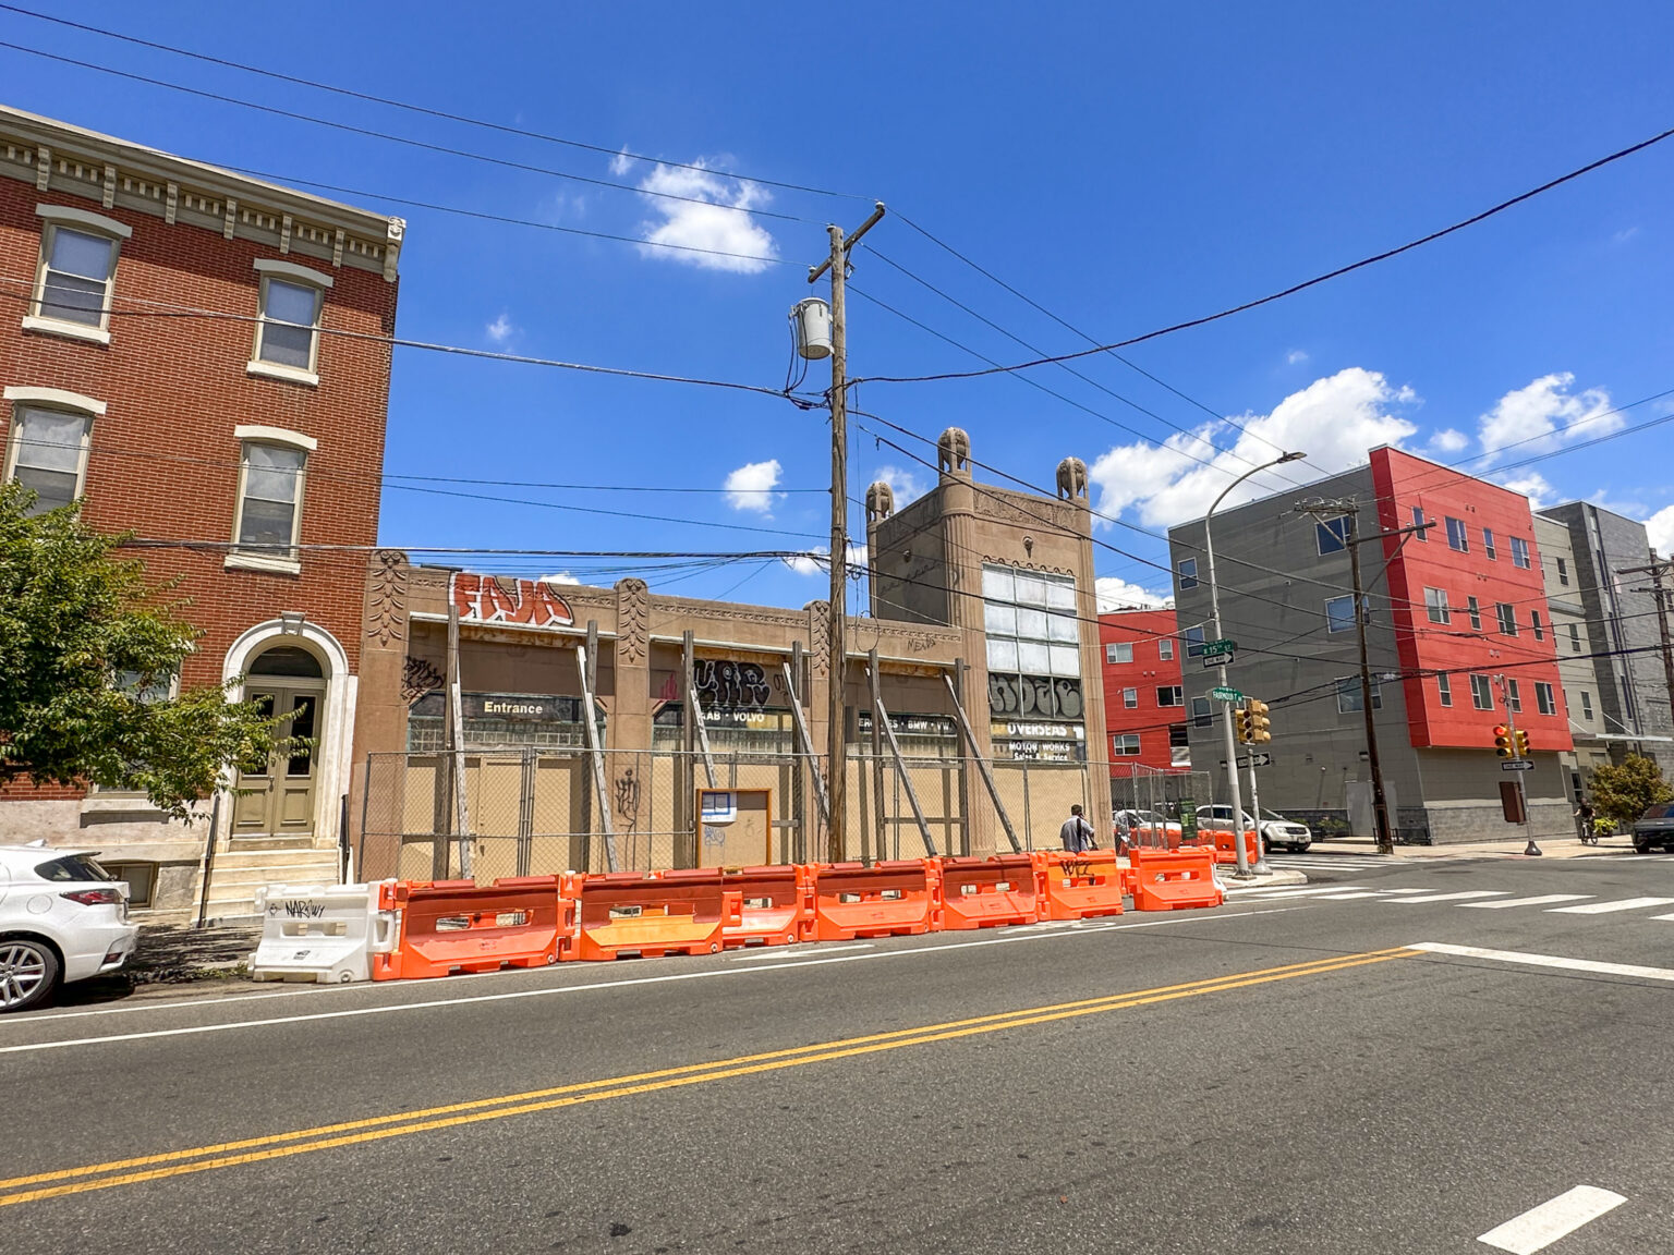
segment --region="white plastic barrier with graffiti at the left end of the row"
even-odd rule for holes
[[[385,880],[393,884],[392,880]],[[395,949],[393,910],[378,910],[383,885],[268,885],[256,890],[261,944],[249,955],[256,981],[350,984],[372,979],[372,954]]]

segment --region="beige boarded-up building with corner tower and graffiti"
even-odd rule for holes
[[[887,485],[867,494],[870,614],[847,629],[849,830],[835,845],[825,602],[375,554],[357,877],[991,853],[1055,845],[1071,803],[1108,815],[1086,469],[1066,458],[1055,500],[976,484],[968,457],[953,428],[932,492],[899,512]]]

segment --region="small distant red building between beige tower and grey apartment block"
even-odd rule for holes
[[[1175,633],[1172,609],[1098,616],[1112,775],[1133,765],[1162,771],[1192,765],[1180,679],[1185,644]]]

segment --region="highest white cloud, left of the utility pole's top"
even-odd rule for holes
[[[626,159],[621,154],[611,161],[611,169],[619,174],[618,164],[626,169]],[[646,241],[639,248],[641,256],[678,261],[703,269],[725,269],[735,274],[760,274],[768,268],[768,259],[778,256],[773,236],[750,214],[737,213],[738,209],[758,209],[772,199],[760,184],[727,179],[706,169],[658,164],[639,181],[639,189],[663,192],[663,196],[646,197],[660,218],[643,223],[639,228]],[[666,199],[668,196],[691,199],[671,201]],[[650,244],[676,244],[678,248],[650,248]],[[685,249],[708,251],[690,253]]]

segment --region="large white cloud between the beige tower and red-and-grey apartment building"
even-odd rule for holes
[[[1396,388],[1374,370],[1349,366],[1291,393],[1272,413],[1239,415],[1244,430],[1230,448],[1217,452],[1209,437],[1225,427],[1205,423],[1162,445],[1117,445],[1093,462],[1088,477],[1098,485],[1103,514],[1133,509],[1143,524],[1167,527],[1200,519],[1230,480],[1252,465],[1271,462],[1277,457],[1276,448],[1302,450],[1306,467],[1252,475],[1227,497],[1229,505],[1279,492],[1299,479],[1363,464],[1368,448],[1398,445],[1418,430],[1393,412],[1416,400],[1411,388]]]

